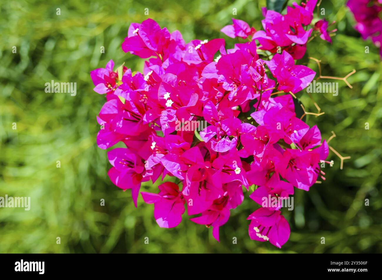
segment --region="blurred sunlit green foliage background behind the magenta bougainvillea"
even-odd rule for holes
[[[322,1],[325,18],[336,21],[338,32],[332,45],[314,39],[308,53],[322,60],[325,76],[344,77],[356,69],[348,79],[353,89],[339,81],[338,96],[313,93],[325,114],[307,121],[325,138],[333,130],[337,137],[330,145],[351,159],[340,170],[330,152],[335,164],[325,167],[326,181],[309,192],[295,191],[294,211],[284,211],[291,235],[282,249],[250,240],[246,217],[257,206],[248,193],[220,227],[218,243],[212,229],[186,218],[175,229],[159,228],[152,204],[139,196],[134,208],[130,191],[107,177],[106,151],[95,143],[95,116],[105,98],[93,92],[89,72],[110,59],[141,71],[143,60],[120,47],[129,24],[150,17],[170,32],[178,29],[186,42],[221,37],[232,47],[236,41],[220,29],[232,17],[261,29],[262,6],[265,0],[2,1],[0,196],[30,196],[31,210],[0,208],[0,253],[381,253],[382,66],[378,49],[353,30],[353,16],[342,0]],[[317,71],[314,61],[302,63]],[[77,95],[45,93],[50,80],[76,82]],[[306,92],[298,97],[316,112]],[[150,183],[141,190],[156,192]]]

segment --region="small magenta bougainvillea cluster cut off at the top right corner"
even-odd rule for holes
[[[357,22],[354,28],[380,48],[382,58],[382,0],[349,0],[347,5]]]

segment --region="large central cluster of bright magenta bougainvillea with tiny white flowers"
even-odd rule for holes
[[[266,11],[264,31],[233,19],[222,31],[249,41],[232,49],[224,39],[186,43],[179,31],[152,19],[131,23],[122,50],[146,59],[143,71],[110,60],[91,72],[94,91],[106,95],[97,145],[124,143],[107,153],[108,176],[131,190],[135,206],[142,182],[159,182],[141,196],[154,204],[160,227],[176,227],[187,212],[191,221],[212,227],[219,241],[230,210],[242,203],[243,190],[252,190],[258,209],[248,217],[250,238],[279,248],[288,240],[282,208],[264,207],[262,199],[308,191],[324,174],[320,163],[328,146],[316,126],[296,116],[289,93],[303,90],[316,74],[294,60],[313,31],[304,27],[315,4],[293,4],[284,16]],[[275,54],[261,58],[259,48]],[[277,89],[286,94],[272,95]],[[197,125],[179,128],[179,122]]]

